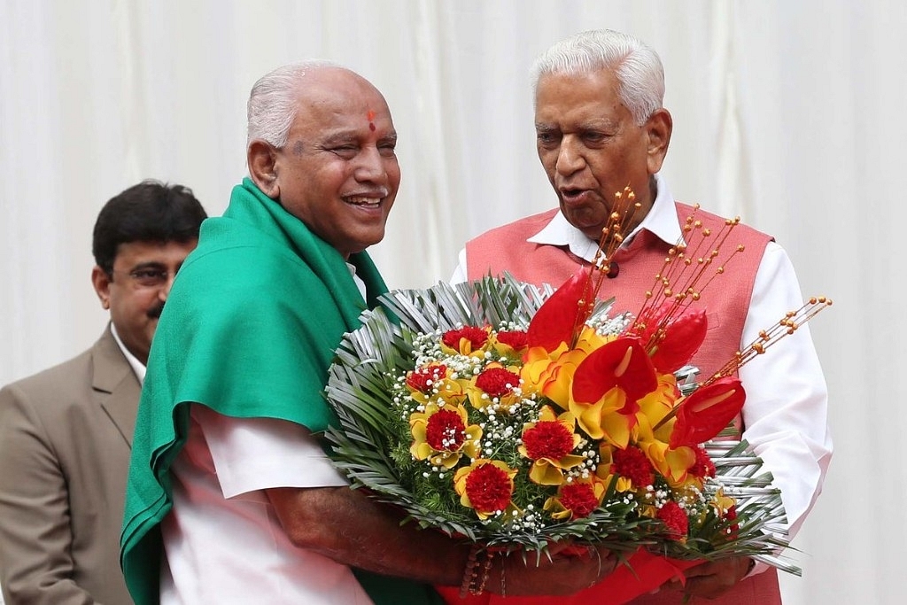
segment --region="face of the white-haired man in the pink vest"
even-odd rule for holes
[[[599,239],[614,194],[629,186],[641,204],[632,227],[655,200],[651,176],[668,151],[670,114],[658,109],[638,125],[620,102],[618,82],[606,69],[542,75],[536,88],[539,159],[558,194],[561,212],[591,239]]]

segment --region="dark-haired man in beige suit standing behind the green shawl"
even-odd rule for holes
[[[94,225],[92,283],[111,321],[83,354],[0,390],[0,585],[6,605],[127,605],[123,494],[151,337],[205,210],[144,181]]]

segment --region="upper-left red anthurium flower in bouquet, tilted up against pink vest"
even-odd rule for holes
[[[527,344],[553,351],[561,343],[572,345],[577,327],[589,318],[595,293],[588,270],[580,270],[554,291],[536,311],[526,331]]]

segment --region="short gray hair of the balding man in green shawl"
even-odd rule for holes
[[[283,65],[258,79],[249,93],[247,145],[256,139],[277,149],[287,144],[289,129],[296,120],[297,86],[307,72],[323,67],[343,68],[332,61],[311,59]]]

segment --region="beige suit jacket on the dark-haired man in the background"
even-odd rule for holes
[[[0,389],[6,605],[131,605],[123,494],[141,386],[110,326],[82,355]]]

